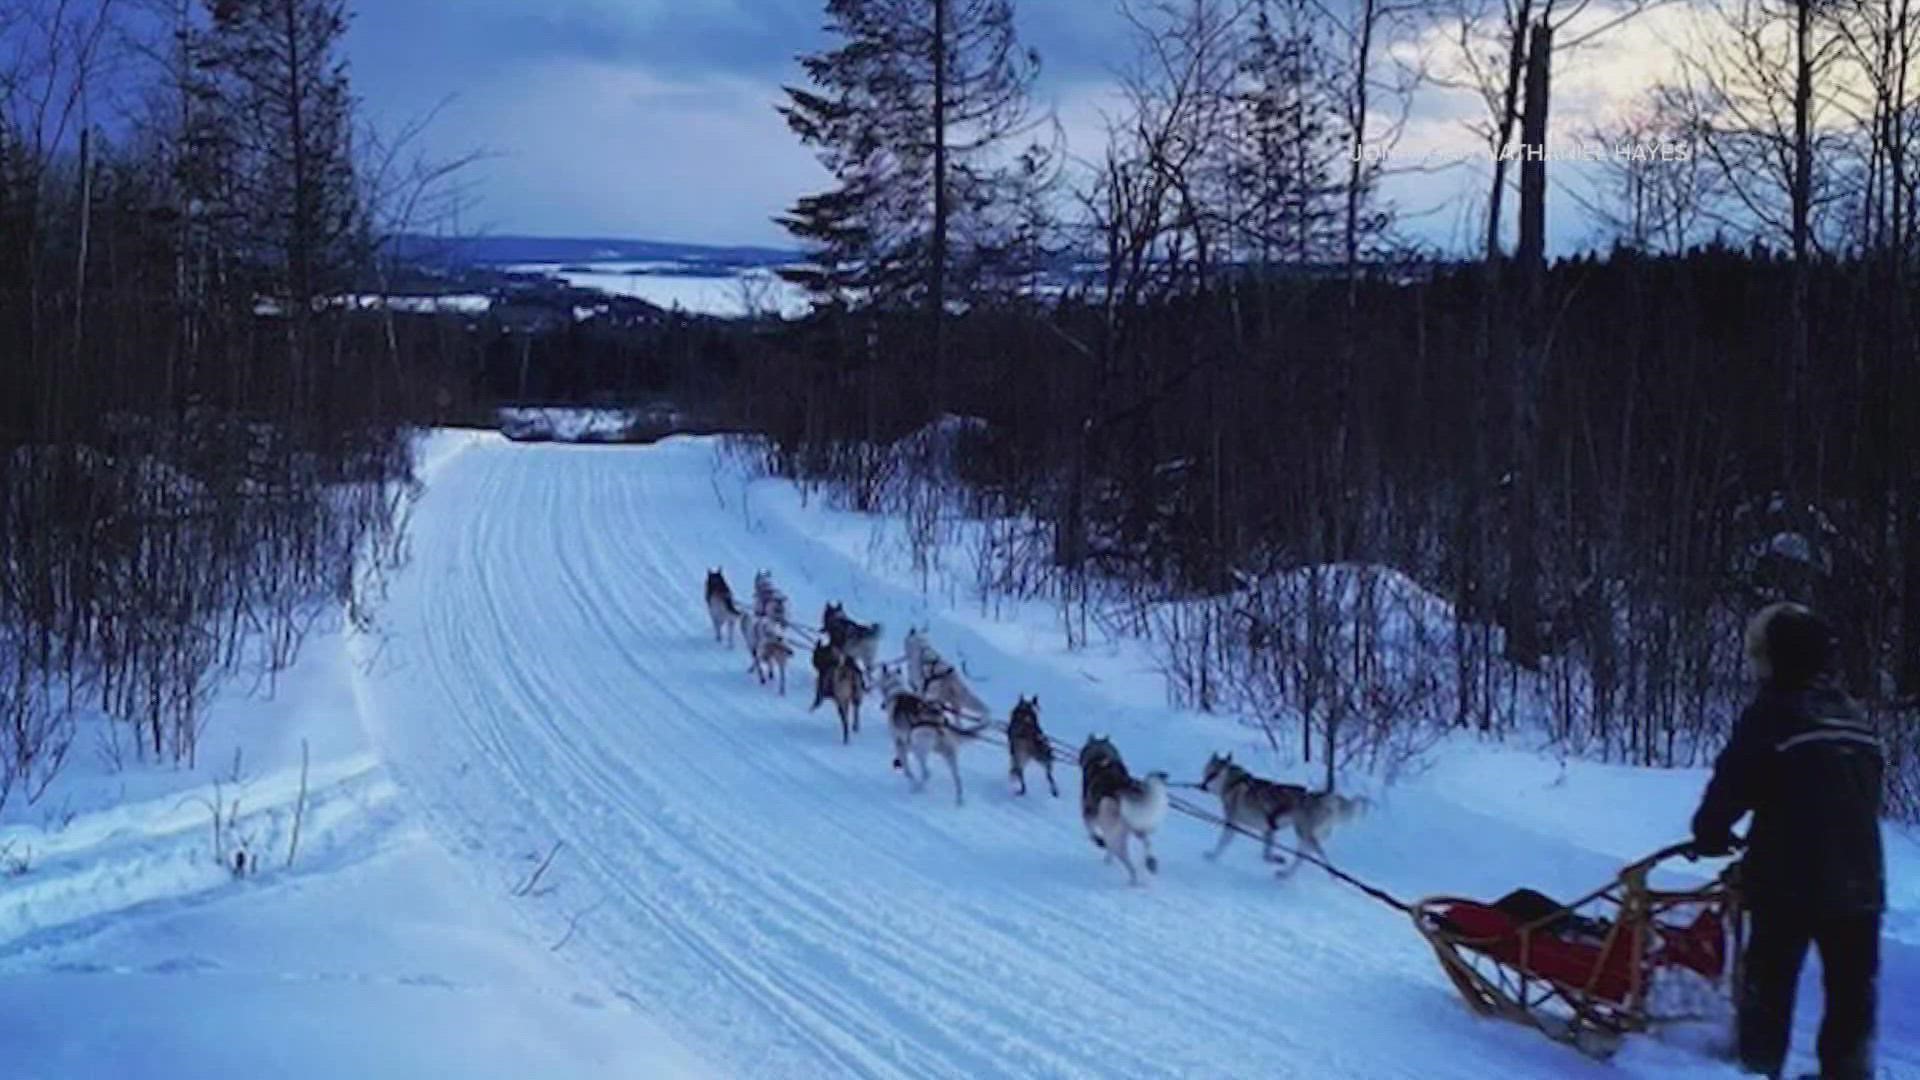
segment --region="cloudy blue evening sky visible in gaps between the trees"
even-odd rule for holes
[[[801,79],[795,56],[826,44],[820,25],[820,0],[361,0],[349,61],[376,119],[451,96],[434,150],[493,154],[465,229],[783,244],[770,217],[826,175],[774,104]],[[1027,0],[1020,29],[1041,50],[1041,98],[1064,117],[1069,150],[1094,154],[1112,69],[1131,50],[1114,0]],[[1645,86],[1670,33],[1670,21],[1636,27],[1563,61],[1555,129],[1572,133]],[[1405,148],[1465,152],[1473,108],[1423,96]],[[1450,244],[1475,234],[1478,186],[1452,169],[1394,194],[1409,231]],[[1555,248],[1592,234],[1565,194],[1549,213]]]

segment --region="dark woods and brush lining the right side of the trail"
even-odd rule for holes
[[[1140,52],[1075,175],[1023,121],[1010,0],[831,0],[785,110],[837,181],[789,217],[820,307],[743,384],[764,463],[904,515],[916,553],[975,519],[983,594],[1156,636],[1190,703],[1329,784],[1452,728],[1699,763],[1743,617],[1801,598],[1920,815],[1920,202],[1887,60],[1920,35],[1882,8],[1718,10],[1690,79],[1599,133],[1684,167],[1617,160],[1617,246],[1549,265],[1542,156],[1494,169],[1476,259],[1400,242],[1394,117],[1465,81],[1490,150],[1546,144],[1551,67],[1632,6],[1123,4]],[[1452,81],[1405,61],[1434,27]],[[948,413],[985,423],[899,442]]]

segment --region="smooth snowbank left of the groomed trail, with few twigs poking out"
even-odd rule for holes
[[[430,440],[428,479],[470,438]],[[420,826],[372,753],[359,690],[348,640],[317,626],[278,680],[217,696],[198,769],[140,765],[127,732],[90,717],[54,788],[31,805],[15,792],[0,817],[0,1076],[710,1074],[568,967],[570,944],[528,932],[516,907],[541,899],[513,894],[530,869],[461,861]],[[259,861],[246,878],[236,849]]]

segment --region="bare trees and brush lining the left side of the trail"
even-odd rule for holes
[[[359,127],[346,19],[0,13],[0,803],[73,753],[190,761],[211,676],[363,615],[397,550],[436,394],[342,298],[445,173]]]

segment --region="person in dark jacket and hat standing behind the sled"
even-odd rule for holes
[[[1797,603],[1763,609],[1747,623],[1747,659],[1761,688],[1693,815],[1693,849],[1724,855],[1734,847],[1734,822],[1753,813],[1741,863],[1751,922],[1740,1061],[1780,1076],[1811,944],[1826,974],[1820,1076],[1866,1080],[1885,909],[1885,751],[1834,678],[1834,634],[1818,615]]]

